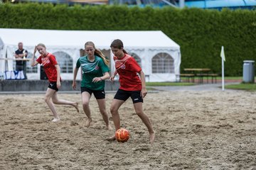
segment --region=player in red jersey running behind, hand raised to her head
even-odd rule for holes
[[[36,55],[36,50],[40,53],[40,57],[35,61],[35,55]],[[31,60],[31,66],[36,66],[37,64],[42,64],[43,69],[46,72],[46,75],[48,77],[48,80],[50,82],[48,89],[46,90],[46,96],[45,96],[45,101],[47,105],[50,108],[50,111],[53,113],[53,122],[58,122],[60,120],[60,117],[58,116],[54,104],[58,105],[70,105],[75,107],[76,111],[79,112],[78,110],[78,103],[77,102],[71,102],[71,101],[65,101],[65,100],[60,100],[58,99],[57,96],[57,91],[60,89],[60,66],[58,65],[55,56],[50,54],[49,52],[46,51],[46,45],[43,44],[38,44],[36,45],[34,51],[33,51],[33,56]],[[51,100],[50,100],[51,99]],[[54,103],[54,104],[53,104]]]

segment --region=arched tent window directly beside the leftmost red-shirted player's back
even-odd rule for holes
[[[65,52],[54,52],[61,73],[73,73],[73,59]]]

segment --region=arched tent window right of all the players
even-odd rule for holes
[[[160,52],[152,58],[152,73],[174,73],[174,59],[171,55]]]

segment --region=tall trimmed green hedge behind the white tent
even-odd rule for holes
[[[0,4],[0,28],[162,30],[181,45],[181,72],[209,67],[220,73],[222,45],[227,76],[242,75],[242,61],[256,60],[256,11]]]

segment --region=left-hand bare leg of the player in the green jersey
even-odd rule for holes
[[[83,91],[82,94],[82,109],[85,112],[85,115],[87,116],[87,122],[85,123],[85,127],[89,127],[90,123],[92,122],[92,117],[91,117],[91,113],[90,113],[90,107],[89,107],[89,103],[90,103],[90,93],[87,91]]]

